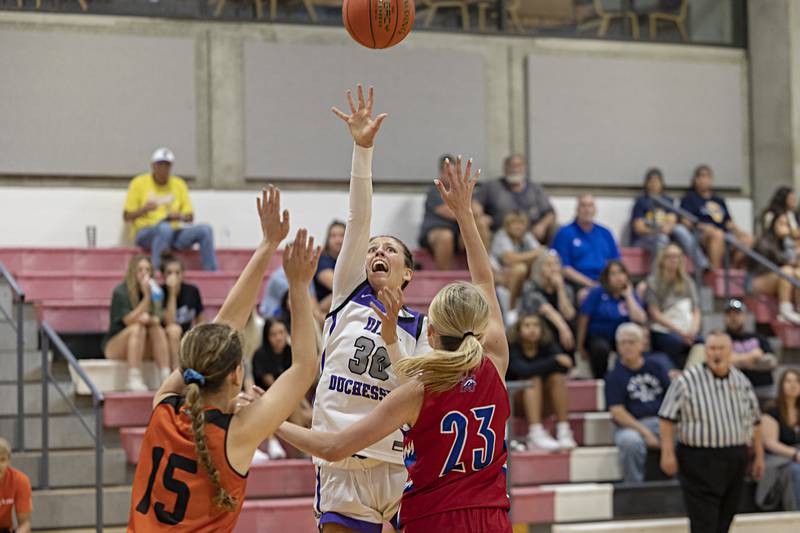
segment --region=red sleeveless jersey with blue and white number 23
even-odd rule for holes
[[[508,509],[508,393],[494,363],[481,364],[452,389],[425,392],[417,422],[405,433],[408,481],[400,523],[477,507]]]

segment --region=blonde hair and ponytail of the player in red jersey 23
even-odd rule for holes
[[[456,282],[440,290],[431,302],[430,323],[441,348],[407,357],[395,364],[406,377],[416,377],[431,392],[457,385],[483,360],[480,337],[489,323],[489,304],[471,283]]]

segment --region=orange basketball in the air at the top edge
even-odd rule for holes
[[[412,0],[344,0],[347,33],[367,48],[389,48],[406,38],[414,25]]]

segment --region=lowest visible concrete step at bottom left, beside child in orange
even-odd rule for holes
[[[121,526],[128,523],[131,488],[103,488],[103,523]],[[91,527],[95,525],[94,488],[37,490],[33,493],[33,508],[44,512],[32,515],[35,529]]]

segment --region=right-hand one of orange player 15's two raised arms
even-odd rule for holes
[[[315,321],[308,286],[317,271],[321,250],[301,229],[283,254],[283,269],[289,280],[292,306],[292,366],[269,390],[243,407],[231,423],[232,438],[249,463],[261,442],[275,432],[305,396],[317,375]],[[229,450],[229,454],[233,453]],[[240,457],[241,458],[241,457]]]

